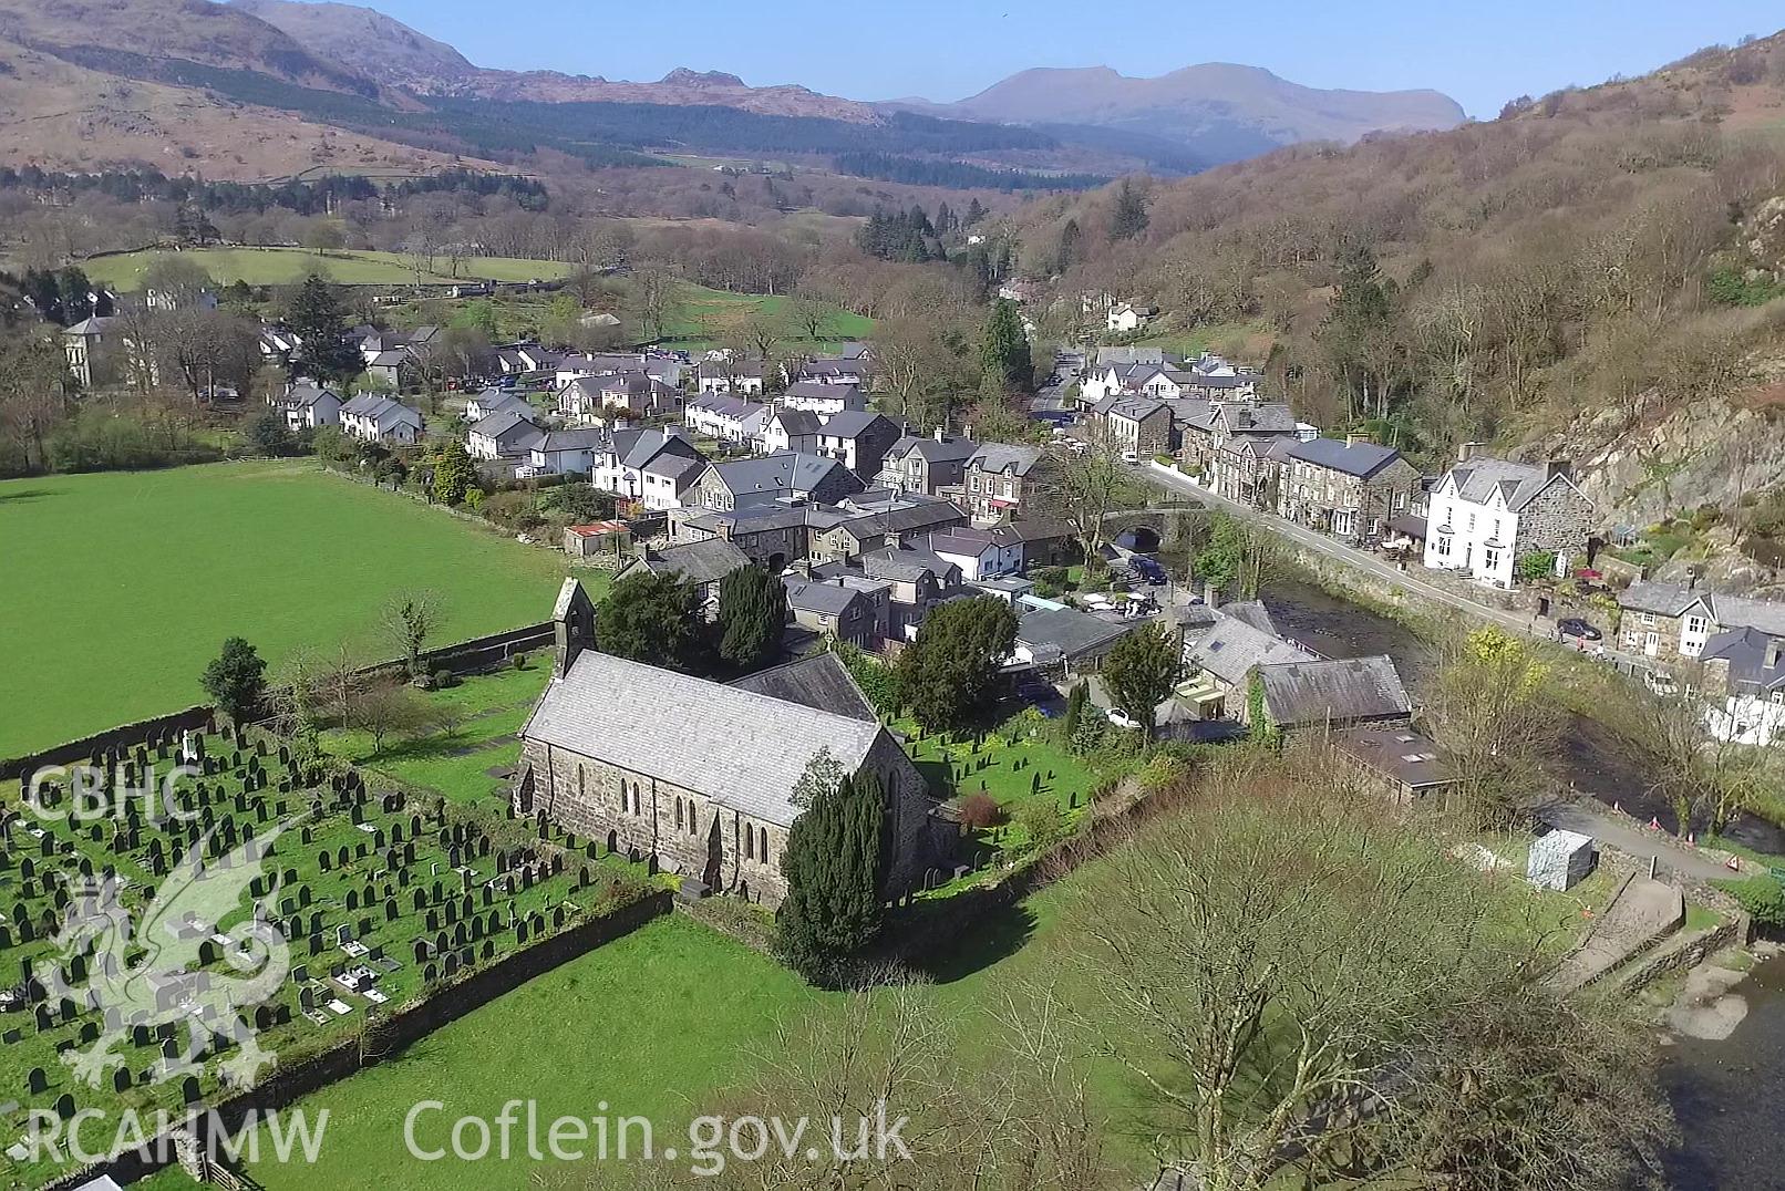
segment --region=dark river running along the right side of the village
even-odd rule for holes
[[[1432,675],[1432,650],[1399,621],[1305,582],[1273,582],[1262,602],[1278,632],[1317,654],[1387,654],[1416,691]],[[1573,718],[1555,777],[1631,814],[1671,823],[1667,807],[1640,795],[1646,782],[1639,766],[1594,720]],[[1785,852],[1785,832],[1751,816],[1726,834],[1765,852]],[[1785,957],[1760,964],[1733,991],[1748,1000],[1748,1016],[1728,1039],[1681,1037],[1667,1048],[1662,1079],[1681,1130],[1678,1150],[1667,1155],[1674,1187],[1785,1187],[1778,1107],[1785,1104]]]

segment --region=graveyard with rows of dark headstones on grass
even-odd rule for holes
[[[259,732],[170,732],[93,762],[123,787],[198,773],[171,807],[105,814],[71,814],[75,791],[46,784],[0,825],[14,1182],[54,1173],[16,1145],[30,1109],[175,1111],[264,1079],[271,1055],[284,1071],[355,1036],[375,1046],[380,1020],[655,884],[555,829],[373,789]]]

